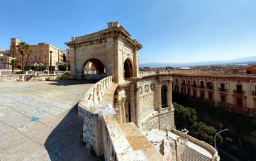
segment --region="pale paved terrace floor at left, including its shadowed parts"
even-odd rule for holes
[[[80,143],[90,81],[0,82],[0,160],[99,160]]]

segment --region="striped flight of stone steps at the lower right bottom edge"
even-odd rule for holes
[[[211,161],[211,158],[198,153],[197,151],[193,150],[186,146],[184,153],[180,159],[181,161]]]

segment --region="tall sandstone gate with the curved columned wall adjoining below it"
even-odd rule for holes
[[[100,80],[113,76],[118,84],[113,105],[120,109],[120,123],[134,122],[143,129],[161,129],[163,123],[174,127],[171,74],[159,71],[143,76],[138,59],[142,45],[122,25],[109,22],[108,29],[72,37],[65,44],[71,50],[74,78]],[[88,62],[95,66],[94,74],[84,71]]]

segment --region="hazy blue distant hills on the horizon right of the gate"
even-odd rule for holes
[[[204,61],[204,62],[188,62],[188,63],[145,63],[140,64],[140,67],[193,67],[193,66],[218,66],[218,65],[232,65],[232,64],[246,64],[246,63],[256,63],[256,56],[255,57],[241,57],[232,60],[213,60],[213,61]]]

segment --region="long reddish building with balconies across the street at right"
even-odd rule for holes
[[[251,74],[174,73],[173,92],[256,116],[256,76]]]

